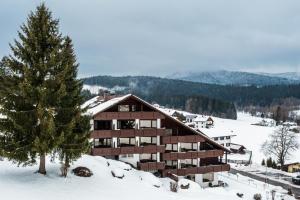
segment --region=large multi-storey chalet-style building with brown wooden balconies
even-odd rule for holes
[[[93,116],[92,155],[202,186],[217,184],[215,173],[230,169],[228,149],[137,96],[95,97],[83,107]]]

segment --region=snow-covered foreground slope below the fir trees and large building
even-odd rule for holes
[[[109,163],[109,165],[107,164]],[[17,167],[11,162],[0,161],[0,199],[4,200],[82,200],[82,199],[205,199],[235,200],[240,199],[236,193],[244,194],[243,199],[253,199],[260,193],[263,199],[271,199],[271,190],[276,190],[276,200],[294,199],[286,195],[280,187],[265,185],[241,175],[219,173],[220,180],[227,187],[202,189],[195,182],[183,179],[179,184],[190,183],[189,189],[179,189],[177,193],[170,191],[170,179],[157,178],[149,172],[131,169],[119,161],[107,160],[103,157],[85,155],[74,163],[86,166],[93,172],[90,178],[69,174],[67,178],[59,176],[59,164],[47,163],[46,176],[35,174],[37,166]],[[111,172],[123,179],[114,178]]]

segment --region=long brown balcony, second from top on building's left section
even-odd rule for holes
[[[153,137],[165,135],[167,129],[123,129],[123,130],[94,130],[91,133],[91,138],[112,138],[112,137]]]

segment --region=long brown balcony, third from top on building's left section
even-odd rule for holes
[[[144,147],[93,148],[91,154],[94,156],[113,156],[120,154],[162,153],[164,151],[164,145],[149,145]]]

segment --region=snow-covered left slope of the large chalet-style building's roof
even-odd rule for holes
[[[101,100],[99,100],[99,96],[97,96],[97,97],[94,97],[94,98],[88,100],[87,102],[85,102],[82,105],[82,107],[88,108],[87,114],[96,115],[97,113],[106,110],[107,108],[113,106],[114,104],[117,104],[117,103],[123,101],[124,99],[126,99],[129,96],[131,96],[131,94],[127,94],[127,95],[124,95],[121,97],[115,97],[108,101],[101,101]]]

